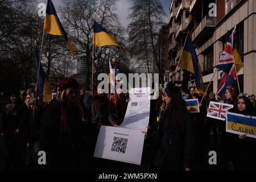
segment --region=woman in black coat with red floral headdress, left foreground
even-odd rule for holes
[[[83,111],[75,90],[78,82],[64,78],[57,84],[56,100],[43,114],[39,130],[40,150],[46,152],[50,169],[79,168],[82,141]]]

